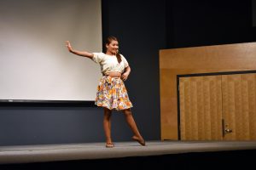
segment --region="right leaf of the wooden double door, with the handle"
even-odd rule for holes
[[[256,74],[222,76],[224,140],[256,139]]]

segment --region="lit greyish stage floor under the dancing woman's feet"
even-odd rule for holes
[[[114,148],[106,148],[105,143],[0,146],[0,164],[256,150],[256,141],[147,141],[146,144],[117,142]]]

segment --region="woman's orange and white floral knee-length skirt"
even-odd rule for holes
[[[97,87],[95,105],[109,110],[125,110],[132,107],[125,83],[120,77],[103,76]]]

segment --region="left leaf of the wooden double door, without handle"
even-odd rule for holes
[[[222,139],[221,76],[180,77],[182,140]]]

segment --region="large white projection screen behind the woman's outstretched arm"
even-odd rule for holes
[[[101,0],[1,0],[0,100],[94,101],[102,52]]]

